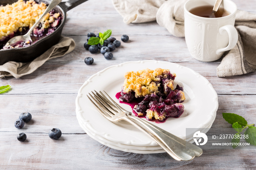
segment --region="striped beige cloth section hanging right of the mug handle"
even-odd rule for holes
[[[238,10],[235,27],[237,45],[229,51],[217,67],[217,76],[234,76],[256,71],[256,15]]]

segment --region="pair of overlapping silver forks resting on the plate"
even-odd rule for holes
[[[105,91],[104,91],[105,92]],[[105,92],[106,97],[102,92],[89,93],[89,100],[94,104],[98,111],[112,122],[126,120],[148,136],[154,139],[170,156],[181,161],[189,161],[202,154],[202,149],[181,139],[169,132],[143,120],[136,116],[131,116],[131,112],[121,108],[109,95]],[[97,103],[97,104],[96,104]]]

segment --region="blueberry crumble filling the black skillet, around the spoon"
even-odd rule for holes
[[[47,8],[45,3],[34,0],[18,0],[11,5],[0,6],[0,49],[27,47],[56,30],[63,17],[52,9],[31,33],[31,41],[6,44],[17,35],[25,35]]]

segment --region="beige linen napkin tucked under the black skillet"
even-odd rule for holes
[[[72,38],[61,36],[59,42],[47,50],[44,54],[35,58],[31,62],[20,63],[10,61],[0,65],[0,78],[13,76],[19,78],[21,76],[34,72],[38,67],[43,65],[49,59],[61,57],[70,53],[75,48],[75,41]]]

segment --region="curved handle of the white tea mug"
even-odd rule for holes
[[[218,49],[216,51],[217,55],[221,54],[224,51],[233,49],[237,44],[238,33],[237,33],[236,28],[232,25],[222,26],[219,28],[219,33],[222,35],[225,30],[227,31],[227,34],[229,34],[229,44],[225,48]]]

